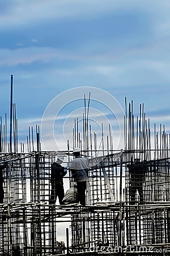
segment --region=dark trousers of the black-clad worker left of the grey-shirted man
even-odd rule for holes
[[[59,204],[62,204],[62,200],[65,196],[63,185],[54,183],[54,184],[52,184],[52,190],[51,190],[49,204],[56,204],[57,196],[59,199]]]

